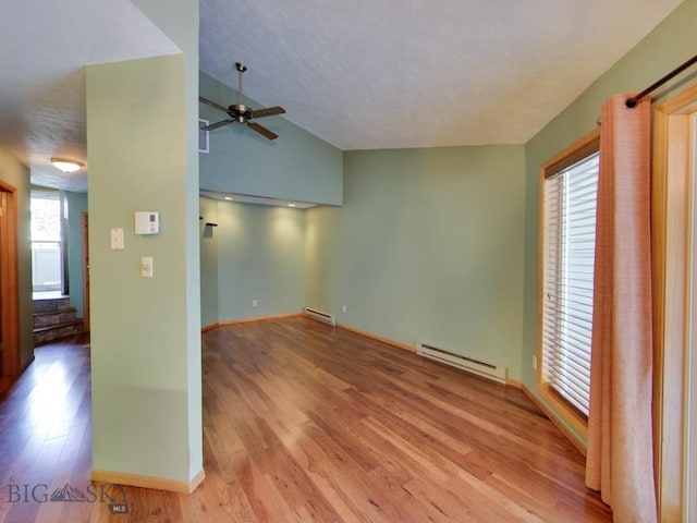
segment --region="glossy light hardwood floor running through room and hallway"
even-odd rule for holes
[[[38,349],[0,400],[0,521],[612,521],[583,455],[519,390],[299,317],[204,335],[193,495],[106,486],[106,502],[35,502],[40,484],[39,499],[88,492],[83,342]],[[123,495],[129,514],[111,514]]]

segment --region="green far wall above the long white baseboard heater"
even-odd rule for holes
[[[524,161],[523,146],[344,153],[344,206],[307,211],[307,305],[519,379]]]

